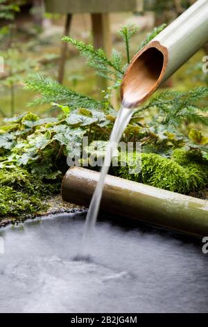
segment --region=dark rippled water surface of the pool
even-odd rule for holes
[[[84,218],[65,215],[0,230],[0,312],[207,312],[200,241],[99,221],[91,260],[75,261]]]

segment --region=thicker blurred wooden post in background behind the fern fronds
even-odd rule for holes
[[[112,53],[112,35],[110,31],[110,14],[109,13],[92,13],[92,32],[94,47],[96,49],[103,48],[107,56],[111,56]],[[98,76],[98,88],[105,90],[107,86],[110,86],[110,81]],[[116,107],[116,93],[112,94],[112,104]]]

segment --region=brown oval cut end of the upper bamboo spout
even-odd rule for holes
[[[162,83],[168,63],[168,50],[158,41],[148,43],[128,66],[121,83],[123,106],[135,107],[144,102]]]

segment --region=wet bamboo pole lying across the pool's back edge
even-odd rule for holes
[[[62,182],[62,199],[89,206],[99,173],[69,168]],[[107,175],[101,209],[165,228],[208,235],[208,201]]]

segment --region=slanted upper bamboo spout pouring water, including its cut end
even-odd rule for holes
[[[144,102],[208,40],[208,1],[198,0],[139,51],[121,83],[126,107]]]

